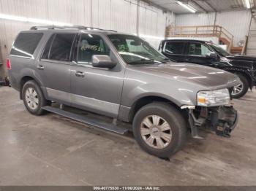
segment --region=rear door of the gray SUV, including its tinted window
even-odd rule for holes
[[[37,75],[48,98],[64,104],[70,103],[71,50],[75,36],[74,33],[52,34],[37,62]]]

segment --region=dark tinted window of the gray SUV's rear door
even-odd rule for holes
[[[70,61],[70,52],[75,34],[55,34],[48,40],[42,58],[55,61]]]

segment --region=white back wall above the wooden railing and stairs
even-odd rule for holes
[[[251,13],[249,10],[217,12],[216,25],[222,26],[234,36],[236,46],[244,36],[248,35]],[[176,15],[176,26],[214,25],[215,12]]]

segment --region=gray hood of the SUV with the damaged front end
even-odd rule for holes
[[[240,82],[239,78],[230,72],[192,63],[154,64],[135,67],[159,77],[167,76],[177,81],[201,85],[206,89],[233,87]]]

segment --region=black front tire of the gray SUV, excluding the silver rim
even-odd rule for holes
[[[150,147],[146,144],[146,141],[143,140],[143,137],[140,134],[140,124],[145,117],[148,115],[159,115],[165,119],[172,131],[172,139],[170,144],[163,149],[156,149],[154,147]],[[154,106],[146,106],[135,115],[134,122],[132,124],[133,133],[135,136],[136,141],[142,149],[146,150],[146,152],[150,153],[151,155],[157,155],[158,157],[170,157],[175,152],[178,151],[180,147],[180,139],[181,139],[181,128],[184,125],[184,122],[179,123],[178,120],[175,118],[173,113],[167,107],[154,107]]]

